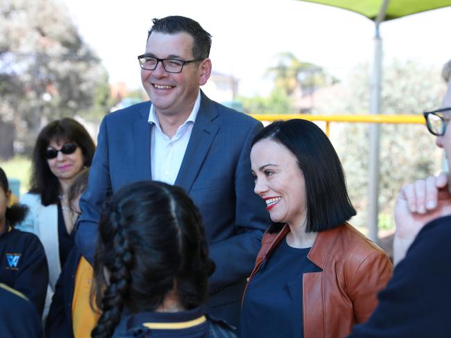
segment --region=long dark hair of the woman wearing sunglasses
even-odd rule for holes
[[[85,127],[74,118],[61,118],[52,121],[37,136],[35,148],[33,149],[32,172],[30,192],[40,195],[42,205],[48,206],[58,202],[60,195],[60,182],[53,175],[44,157],[44,152],[51,141],[74,142],[83,153],[84,166],[90,167],[96,145]]]

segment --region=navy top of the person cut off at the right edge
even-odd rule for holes
[[[418,233],[366,323],[352,338],[451,337],[451,216]]]

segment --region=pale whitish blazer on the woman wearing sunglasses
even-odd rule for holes
[[[49,313],[51,299],[55,293],[56,281],[61,272],[60,243],[58,241],[58,206],[51,204],[43,206],[41,197],[37,194],[26,193],[20,199],[21,204],[28,206],[25,220],[16,229],[28,231],[37,235],[44,246],[47,265],[49,265],[49,285],[44,306],[45,318]]]

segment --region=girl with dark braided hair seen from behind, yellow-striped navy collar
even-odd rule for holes
[[[201,215],[182,189],[124,186],[99,222],[92,299],[102,313],[92,337],[235,337],[200,308],[213,271]]]

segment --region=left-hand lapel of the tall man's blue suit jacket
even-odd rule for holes
[[[150,105],[145,105],[139,111],[139,118],[135,119],[133,149],[135,150],[136,179],[151,179],[151,128],[148,123]]]

